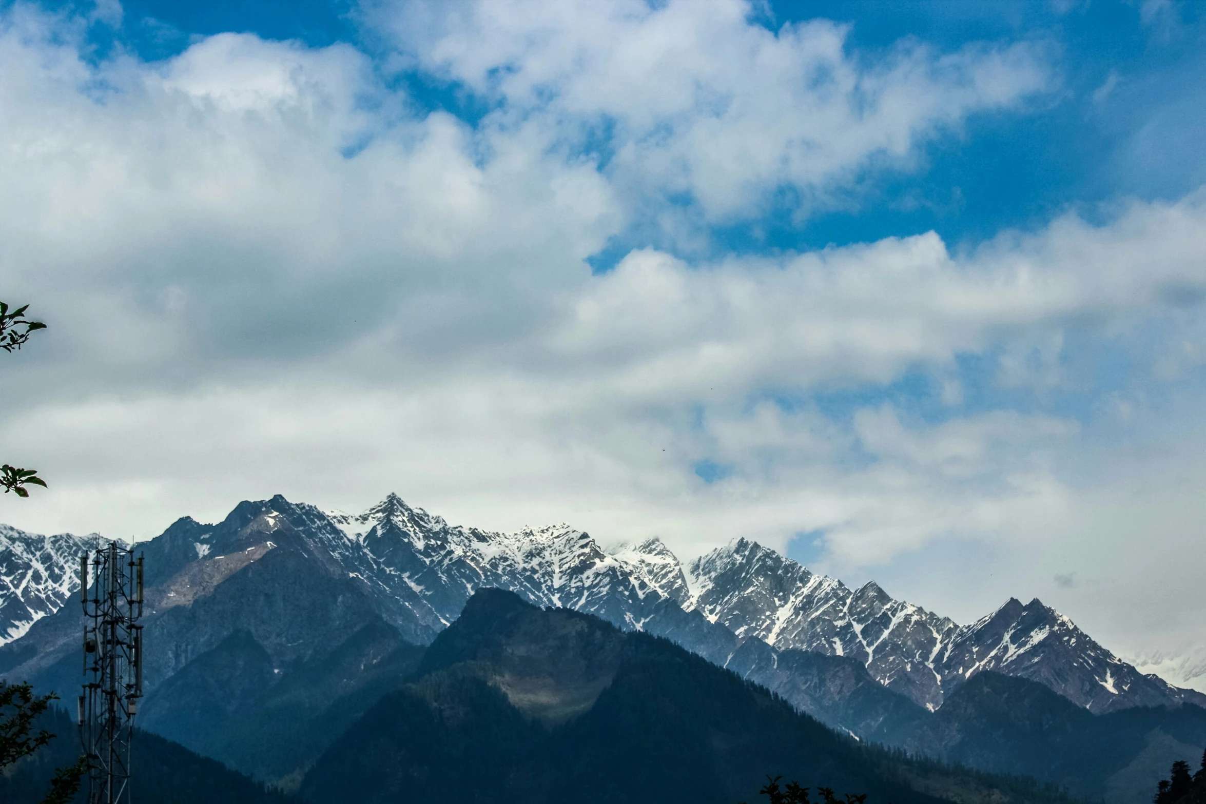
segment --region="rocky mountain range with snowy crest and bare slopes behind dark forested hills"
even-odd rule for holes
[[[71,606],[47,615],[77,588],[83,547],[75,536],[0,530],[0,626],[28,630],[0,646],[0,674],[78,683],[78,615]],[[246,638],[223,650],[259,657],[254,665],[271,665],[270,676],[321,662],[368,627],[426,645],[474,591],[497,587],[666,636],[877,739],[914,717],[907,703],[932,711],[983,670],[1037,681],[1093,712],[1206,704],[1142,675],[1037,600],[1011,600],[960,627],[876,583],[850,589],[744,539],[684,565],[656,539],[604,550],[564,524],[491,533],[391,494],[359,515],[282,497],[240,503],[218,524],[182,518],[142,550],[151,691],[235,632]],[[275,681],[265,679],[254,694],[268,694]],[[856,705],[847,700],[854,691]]]

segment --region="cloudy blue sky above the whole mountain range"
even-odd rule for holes
[[[737,536],[1206,689],[1206,4],[0,5],[37,533]]]

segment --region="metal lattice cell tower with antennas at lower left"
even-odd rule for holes
[[[90,565],[90,573],[89,573]],[[89,577],[92,589],[88,588]],[[130,800],[130,738],[142,697],[142,556],[116,541],[80,557],[83,674],[80,739],[88,803]],[[90,597],[89,597],[90,595]]]

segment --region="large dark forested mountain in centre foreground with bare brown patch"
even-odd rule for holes
[[[306,774],[311,802],[754,800],[768,771],[871,802],[1047,802],[860,746],[672,642],[479,591],[416,679],[361,716]]]

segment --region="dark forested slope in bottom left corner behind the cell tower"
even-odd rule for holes
[[[31,757],[0,774],[0,802],[36,804],[49,791],[57,767],[66,767],[80,753],[76,726],[62,710],[51,710],[39,722],[58,736]],[[130,796],[139,804],[289,804],[281,793],[267,790],[221,762],[198,756],[156,734],[134,735],[134,777]],[[84,804],[81,790],[74,804]]]

